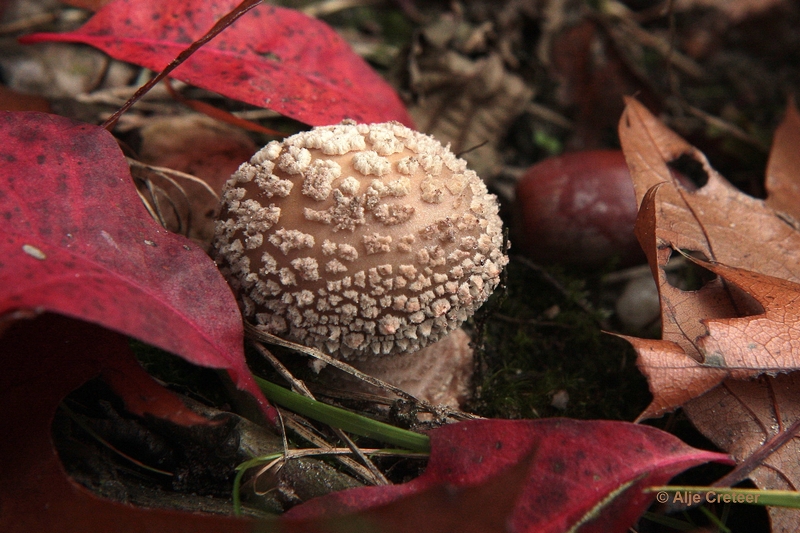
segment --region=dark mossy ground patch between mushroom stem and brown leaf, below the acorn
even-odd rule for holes
[[[647,384],[630,345],[602,332],[605,313],[591,310],[599,290],[579,275],[548,273],[560,289],[512,261],[505,294],[476,318],[478,394],[468,407],[495,418],[634,419],[650,401]],[[552,405],[561,391],[565,409]]]

